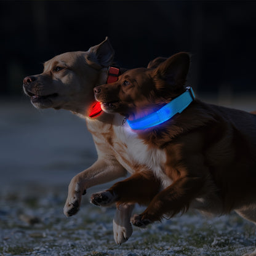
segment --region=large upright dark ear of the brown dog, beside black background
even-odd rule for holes
[[[153,71],[156,78],[158,89],[172,87],[174,90],[182,89],[188,70],[190,68],[190,55],[186,52],[179,52],[167,58],[166,61],[159,64]]]

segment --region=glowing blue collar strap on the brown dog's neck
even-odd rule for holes
[[[174,98],[171,102],[167,103],[165,106],[160,108],[160,110],[144,116],[143,118],[138,118],[132,121],[127,120],[129,126],[134,130],[143,130],[158,124],[162,124],[172,118],[177,113],[182,113],[185,108],[190,105],[194,100],[194,92],[191,87],[186,87],[186,91]]]

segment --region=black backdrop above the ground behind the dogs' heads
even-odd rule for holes
[[[255,92],[256,1],[1,1],[1,95],[67,51],[109,36],[120,66],[192,54],[198,92]]]

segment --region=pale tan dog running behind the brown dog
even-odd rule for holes
[[[106,83],[113,57],[114,50],[106,38],[86,52],[66,52],[55,56],[44,63],[42,74],[27,76],[23,81],[25,94],[36,108],[63,108],[78,114],[86,119],[87,128],[94,138],[98,159],[71,180],[64,207],[66,216],[78,212],[82,194],[87,188],[124,177],[127,171],[133,174],[137,169],[143,169],[145,173],[147,170],[133,150],[133,145],[143,148],[143,141],[137,134],[123,129],[124,118],[121,115],[101,113],[89,117],[95,102],[93,89]],[[149,66],[157,66],[160,62],[161,58],[156,58]],[[161,189],[151,172],[148,178],[155,193]],[[126,204],[116,209],[113,231],[118,244],[126,242],[132,234],[130,216],[133,208],[133,204]]]

